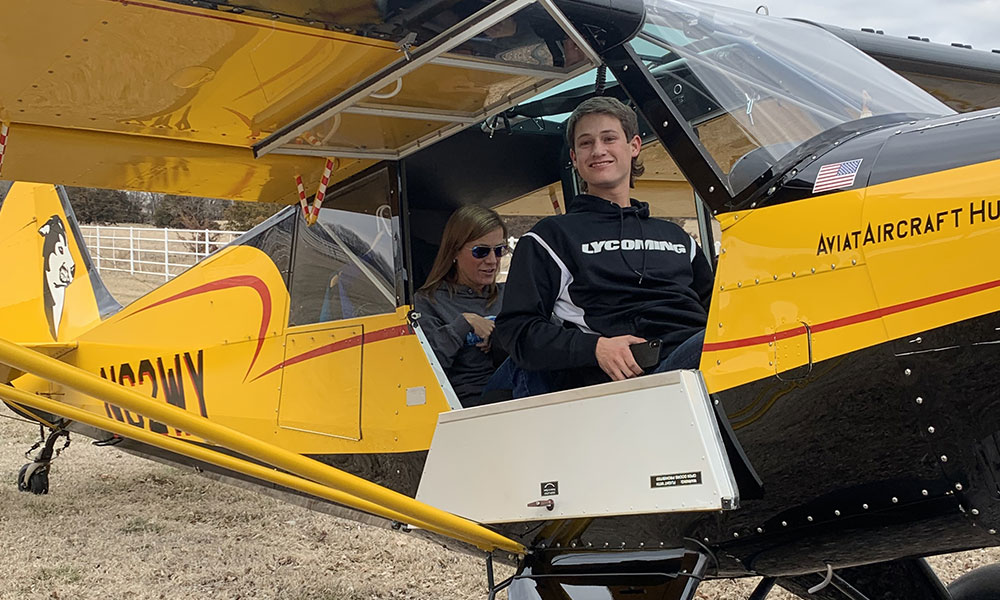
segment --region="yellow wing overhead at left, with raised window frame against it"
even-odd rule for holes
[[[551,0],[5,3],[0,176],[293,203],[591,68]]]

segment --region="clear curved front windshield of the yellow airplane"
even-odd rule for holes
[[[844,123],[954,113],[814,25],[697,2],[646,0],[646,9],[631,44],[734,195],[802,142]]]

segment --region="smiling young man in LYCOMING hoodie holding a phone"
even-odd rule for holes
[[[586,193],[518,241],[496,320],[528,372],[515,377],[515,397],[642,375],[629,346],[647,340],[660,340],[649,372],[698,367],[712,269],[683,229],[629,198],[643,172],[638,131],[632,109],[607,97],[566,123]]]

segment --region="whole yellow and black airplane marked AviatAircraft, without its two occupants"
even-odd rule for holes
[[[65,429],[115,434],[499,551],[518,598],[752,574],[754,598],[947,598],[920,557],[998,544],[1000,111],[956,115],[814,25],[667,0],[76,0],[0,22],[5,179],[320,190],[125,308],[61,188],[5,190],[0,396],[53,431],[23,487]],[[418,274],[456,203],[556,182],[562,146],[529,114],[549,100],[502,113],[521,136],[431,144],[602,62],[647,123],[637,195],[693,187],[721,225],[701,369],[459,410]],[[489,572],[491,595],[510,583]]]

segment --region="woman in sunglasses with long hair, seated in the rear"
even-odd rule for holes
[[[493,342],[507,253],[507,226],[495,211],[463,206],[441,236],[434,266],[417,292],[420,326],[463,406],[474,406],[503,355]]]

